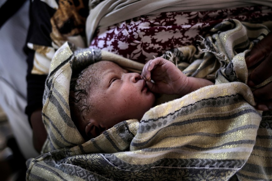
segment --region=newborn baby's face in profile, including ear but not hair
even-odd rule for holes
[[[84,115],[84,128],[88,137],[96,137],[104,130],[127,119],[141,119],[155,102],[155,95],[147,89],[146,81],[138,73],[109,61],[101,63],[102,81],[90,93],[92,114]]]

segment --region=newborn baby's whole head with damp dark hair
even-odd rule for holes
[[[94,63],[71,80],[71,117],[85,140],[124,120],[141,119],[154,102],[140,74],[110,61]]]

